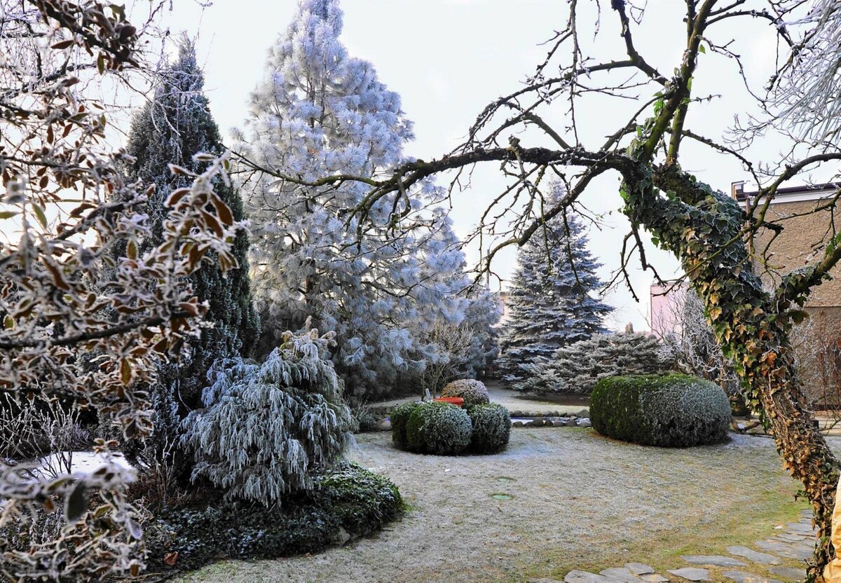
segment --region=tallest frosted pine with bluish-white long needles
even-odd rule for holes
[[[410,121],[397,93],[339,40],[336,0],[303,0],[272,47],[246,122],[244,191],[251,220],[252,281],[262,315],[261,352],[307,318],[336,331],[336,368],[357,397],[381,395],[416,374],[436,321],[458,324],[463,266],[441,192],[421,181],[368,204],[363,237],[347,210],[357,182],[318,183],[334,173],[375,177],[405,162]],[[294,176],[303,184],[278,177]],[[395,199],[409,201],[395,229]]]

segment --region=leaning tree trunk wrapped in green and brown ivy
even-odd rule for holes
[[[786,276],[774,293],[754,273],[743,239],[746,215],[738,203],[677,167],[640,165],[624,172],[624,212],[674,252],[704,302],[717,341],[733,360],[743,395],[762,411],[783,465],[803,484],[819,529],[809,577],[834,556],[831,518],[838,460],[818,432],[803,395],[790,342],[801,321],[814,268]]]

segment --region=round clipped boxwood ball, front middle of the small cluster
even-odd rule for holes
[[[472,429],[470,417],[461,407],[423,403],[409,416],[406,442],[410,451],[454,455],[468,448]]]

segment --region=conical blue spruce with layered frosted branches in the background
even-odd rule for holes
[[[561,194],[556,185],[553,196]],[[500,341],[499,369],[506,380],[520,381],[521,365],[605,331],[612,308],[594,295],[601,285],[599,267],[587,249],[584,225],[573,214],[549,220],[520,248]]]

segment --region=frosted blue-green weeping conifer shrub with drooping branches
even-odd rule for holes
[[[204,409],[184,420],[193,481],[206,479],[241,499],[275,506],[311,490],[351,442],[351,411],[341,399],[327,347],[332,334],[283,334],[263,363],[232,358],[214,365]]]

